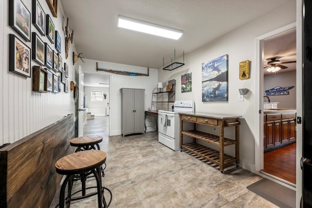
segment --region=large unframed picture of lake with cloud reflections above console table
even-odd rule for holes
[[[228,55],[201,64],[202,102],[228,101]]]

